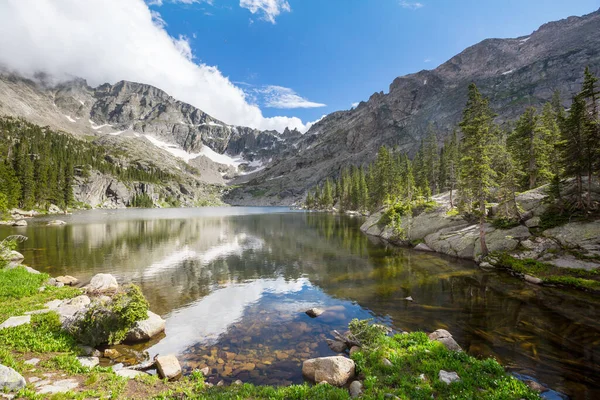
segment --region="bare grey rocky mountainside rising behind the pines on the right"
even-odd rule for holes
[[[341,168],[372,161],[382,145],[414,154],[429,124],[440,136],[456,127],[471,82],[490,98],[499,123],[541,106],[554,90],[568,105],[588,65],[600,73],[600,11],[545,24],[530,36],[484,40],[434,70],[396,78],[387,94],[356,109],[328,115],[229,201],[292,204]]]

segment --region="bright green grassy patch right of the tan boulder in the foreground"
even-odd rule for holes
[[[507,375],[495,360],[478,360],[464,352],[449,351],[441,343],[430,341],[425,333],[390,337],[375,331],[371,335],[374,344],[352,355],[357,373],[365,376],[364,398],[379,399],[386,394],[423,400],[539,398]],[[384,358],[392,366],[384,365]],[[461,380],[447,385],[438,379],[440,370],[454,371]]]

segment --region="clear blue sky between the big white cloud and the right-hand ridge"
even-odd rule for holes
[[[217,66],[265,116],[297,116],[305,122],[387,91],[395,77],[433,69],[485,38],[527,35],[545,22],[600,8],[600,0],[148,3],[171,36],[187,37],[195,62]],[[271,11],[279,14],[252,9],[261,3],[271,3]],[[277,101],[291,92],[270,86],[289,88],[317,104],[281,108],[294,106]]]

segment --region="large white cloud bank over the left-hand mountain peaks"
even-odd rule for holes
[[[28,77],[143,82],[228,124],[306,130],[299,118],[264,117],[216,67],[194,63],[187,38],[169,36],[143,0],[1,1],[0,49],[0,64]]]

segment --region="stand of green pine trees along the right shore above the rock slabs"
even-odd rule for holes
[[[600,174],[599,111],[598,78],[589,68],[568,111],[555,93],[541,111],[529,107],[516,123],[504,126],[494,122],[488,99],[471,84],[462,121],[443,143],[430,127],[412,159],[382,147],[372,164],[345,169],[338,179],[327,179],[310,190],[305,206],[360,212],[386,206],[393,210],[386,220],[398,225],[399,217],[426,207],[432,195],[449,191],[451,211],[479,221],[486,255],[483,224],[488,205],[500,204],[495,224],[518,225],[522,211],[515,198],[520,191],[549,184],[554,204],[543,218],[546,227],[598,213],[591,185]],[[575,177],[575,194],[564,198],[560,185],[569,177]]]

